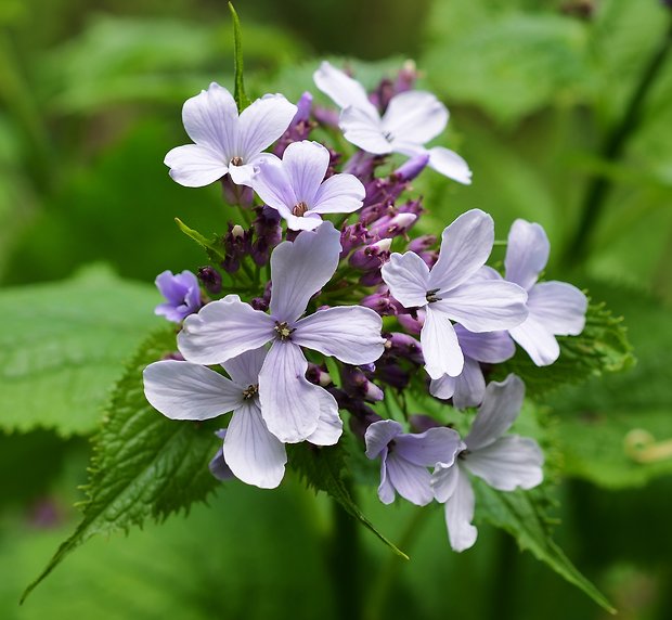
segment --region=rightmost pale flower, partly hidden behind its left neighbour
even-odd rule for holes
[[[577,336],[585,326],[587,299],[567,282],[540,282],[551,245],[544,229],[537,223],[516,220],[508,233],[504,267],[505,279],[528,292],[530,313],[509,334],[538,366],[546,366],[560,356],[555,336]]]

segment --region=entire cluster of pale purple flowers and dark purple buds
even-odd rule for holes
[[[147,366],[144,386],[171,419],[232,412],[210,464],[221,479],[277,487],[287,443],[333,445],[353,434],[379,460],[380,501],[443,503],[462,551],[476,540],[470,476],[502,491],[543,479],[537,442],[505,435],[525,385],[515,375],[489,382],[493,369],[516,344],[534,364],[552,364],[556,336],[583,330],[586,298],[538,282],[550,246],[537,223],[514,222],[503,274],[487,264],[494,222],[479,209],[449,223],[440,242],[411,238],[426,208],[412,182],[425,168],[471,180],[460,155],[426,145],[449,115],[413,88],[415,77],[406,65],[367,93],[322,63],[314,82],[338,112],[311,93],[296,105],[267,94],[238,111],[217,83],[186,101],[194,143],[168,153],[170,176],[221,183],[232,209],[211,264],[157,277],[166,302],[156,311],[181,325],[179,353]],[[319,127],[351,146],[311,141]],[[422,414],[411,414],[406,395]],[[438,411],[461,428],[473,417],[470,429],[462,437]]]

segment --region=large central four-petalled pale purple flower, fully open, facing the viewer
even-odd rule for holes
[[[178,335],[184,358],[201,364],[225,362],[272,343],[259,373],[259,398],[269,430],[285,443],[323,441],[313,435],[321,415],[333,422],[334,442],[340,435],[336,401],[307,380],[301,347],[353,365],[373,362],[384,350],[383,322],[369,308],[328,308],[301,318],[310,298],[336,271],[339,238],[325,222],[273,250],[270,314],[229,295],[192,315]]]

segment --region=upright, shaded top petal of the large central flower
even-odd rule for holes
[[[340,233],[331,222],[281,243],[271,255],[271,314],[277,321],[296,321],[334,275],[339,255]]]

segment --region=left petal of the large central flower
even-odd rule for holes
[[[178,348],[190,362],[219,364],[266,345],[275,336],[274,326],[264,312],[227,295],[184,320]]]

